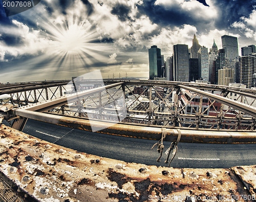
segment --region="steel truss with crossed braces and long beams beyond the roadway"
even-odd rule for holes
[[[94,83],[93,80],[88,82]],[[40,84],[41,88],[29,84],[23,91],[20,86],[16,91],[9,89],[11,102],[23,106],[13,109],[12,113],[90,130],[92,120],[99,128],[116,121],[112,112],[118,107],[123,112],[118,114],[118,119],[125,112],[127,115],[122,122],[101,132],[159,139],[161,128],[166,128],[169,135],[166,140],[169,141],[177,139],[175,131],[180,130],[181,141],[186,142],[256,142],[256,90],[181,82],[105,80],[104,87],[63,96],[67,92],[67,83]],[[139,92],[136,91],[138,88]],[[0,88],[0,94],[6,92]],[[236,94],[236,100],[232,94]],[[123,105],[115,102],[115,96],[123,98]],[[67,98],[69,102],[73,100],[72,106],[68,105]],[[30,103],[34,104],[28,105]],[[93,112],[91,117],[88,110]],[[149,131],[143,133],[143,130]]]

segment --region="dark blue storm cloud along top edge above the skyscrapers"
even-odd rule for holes
[[[205,6],[210,8],[206,4],[205,0],[197,0]],[[239,21],[240,17],[248,17],[255,0],[215,0],[214,6],[218,8],[218,13],[214,20],[217,29],[227,29],[234,21]],[[162,26],[180,26],[181,24],[190,24],[196,26],[197,29],[203,30],[207,23],[211,21],[208,16],[195,15],[198,10],[186,11],[181,8],[179,4],[172,7],[165,7],[162,5],[156,5],[156,0],[144,0],[142,5],[137,5],[139,9],[139,15],[144,14],[150,17],[150,19]]]

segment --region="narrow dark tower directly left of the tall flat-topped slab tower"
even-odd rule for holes
[[[215,71],[213,73],[214,75],[212,75],[214,77],[214,84],[218,84],[218,70],[223,69],[225,67],[226,67],[225,49],[219,49],[214,60],[214,65],[212,67]]]

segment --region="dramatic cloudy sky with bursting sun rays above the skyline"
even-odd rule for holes
[[[221,36],[256,45],[256,0],[41,0],[6,17],[0,1],[0,83],[69,80],[93,70],[102,78],[148,78],[148,48],[164,59],[194,34],[211,48]],[[113,75],[114,74],[114,75]]]

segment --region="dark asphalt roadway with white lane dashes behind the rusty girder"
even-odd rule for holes
[[[161,162],[157,148],[151,147],[157,142],[136,138],[127,138],[96,132],[81,131],[61,127],[50,123],[29,119],[24,133],[69,147],[80,152],[126,162],[147,165],[166,166],[166,155]],[[170,142],[164,142],[165,148]],[[256,164],[256,144],[196,144],[183,143],[178,145],[177,154],[170,164],[171,167],[183,168],[229,168],[232,166]]]

